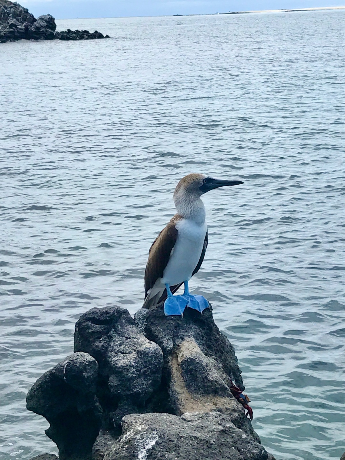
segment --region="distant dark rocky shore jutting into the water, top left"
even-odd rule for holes
[[[92,40],[109,38],[97,30],[71,30],[56,32],[54,17],[45,14],[37,19],[17,2],[0,0],[0,43],[17,40]]]

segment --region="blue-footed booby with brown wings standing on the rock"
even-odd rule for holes
[[[166,315],[183,316],[188,305],[202,313],[208,307],[201,295],[189,293],[188,282],[200,269],[208,243],[206,213],[201,195],[240,180],[219,180],[203,174],[188,174],[174,191],[177,213],[157,236],[149,251],[145,270],[143,308],[164,303]],[[184,293],[174,296],[184,283]]]

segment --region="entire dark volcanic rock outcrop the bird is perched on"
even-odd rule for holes
[[[93,308],[75,325],[75,353],[36,381],[27,407],[50,423],[60,460],[269,460],[232,382],[234,349],[211,308],[133,319]]]

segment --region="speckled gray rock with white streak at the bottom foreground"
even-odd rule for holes
[[[267,460],[265,449],[219,412],[132,414],[103,460]]]

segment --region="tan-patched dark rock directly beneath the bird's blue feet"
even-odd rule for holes
[[[241,370],[233,346],[213,321],[211,308],[202,316],[186,308],[181,318],[165,316],[163,305],[159,305],[137,311],[135,320],[164,355],[161,392],[156,395],[152,412],[181,415],[230,409],[233,423],[259,439],[231,392],[232,382],[244,390]]]

